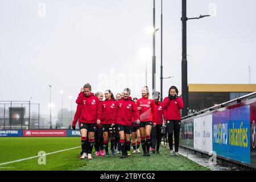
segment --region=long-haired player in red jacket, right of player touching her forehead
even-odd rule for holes
[[[106,151],[105,156],[108,157],[109,156],[108,144],[109,144],[110,132],[113,132],[115,122],[117,121],[117,101],[115,101],[115,98],[111,90],[105,91],[105,98],[106,98],[105,101],[101,102],[101,110],[102,110],[101,127],[104,134],[104,148]],[[111,142],[110,149],[112,151],[112,154],[115,155],[115,151],[114,151],[115,138],[114,137],[110,138],[110,142]]]

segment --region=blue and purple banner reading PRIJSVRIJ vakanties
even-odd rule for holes
[[[250,163],[250,105],[213,114],[213,151]]]

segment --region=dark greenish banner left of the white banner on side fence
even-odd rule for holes
[[[193,119],[181,121],[180,125],[180,144],[183,146],[192,147],[193,142]]]

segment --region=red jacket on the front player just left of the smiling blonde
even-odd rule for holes
[[[131,124],[134,122],[133,118],[136,120],[140,119],[138,108],[135,102],[131,100],[131,97],[118,100],[117,106],[117,124],[131,126]]]

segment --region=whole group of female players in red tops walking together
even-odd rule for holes
[[[80,159],[93,159],[92,150],[95,148],[96,156],[109,156],[122,152],[121,158],[127,158],[132,154],[141,153],[143,156],[159,154],[161,128],[166,125],[168,131],[168,143],[171,156],[179,156],[179,130],[183,109],[183,100],[177,96],[176,86],[171,86],[168,97],[163,103],[159,101],[159,92],[153,93],[152,99],[147,86],[142,88],[142,98],[130,97],[131,90],[125,88],[121,94],[114,94],[111,90],[104,93],[92,93],[90,84],[85,84],[77,97],[77,110],[72,123],[76,129],[79,121],[81,133],[81,157]],[[173,150],[173,134],[175,138],[175,151]],[[131,140],[130,140],[131,137]],[[137,140],[137,141],[136,141]],[[156,148],[155,148],[156,147]],[[104,152],[105,149],[105,152]]]

